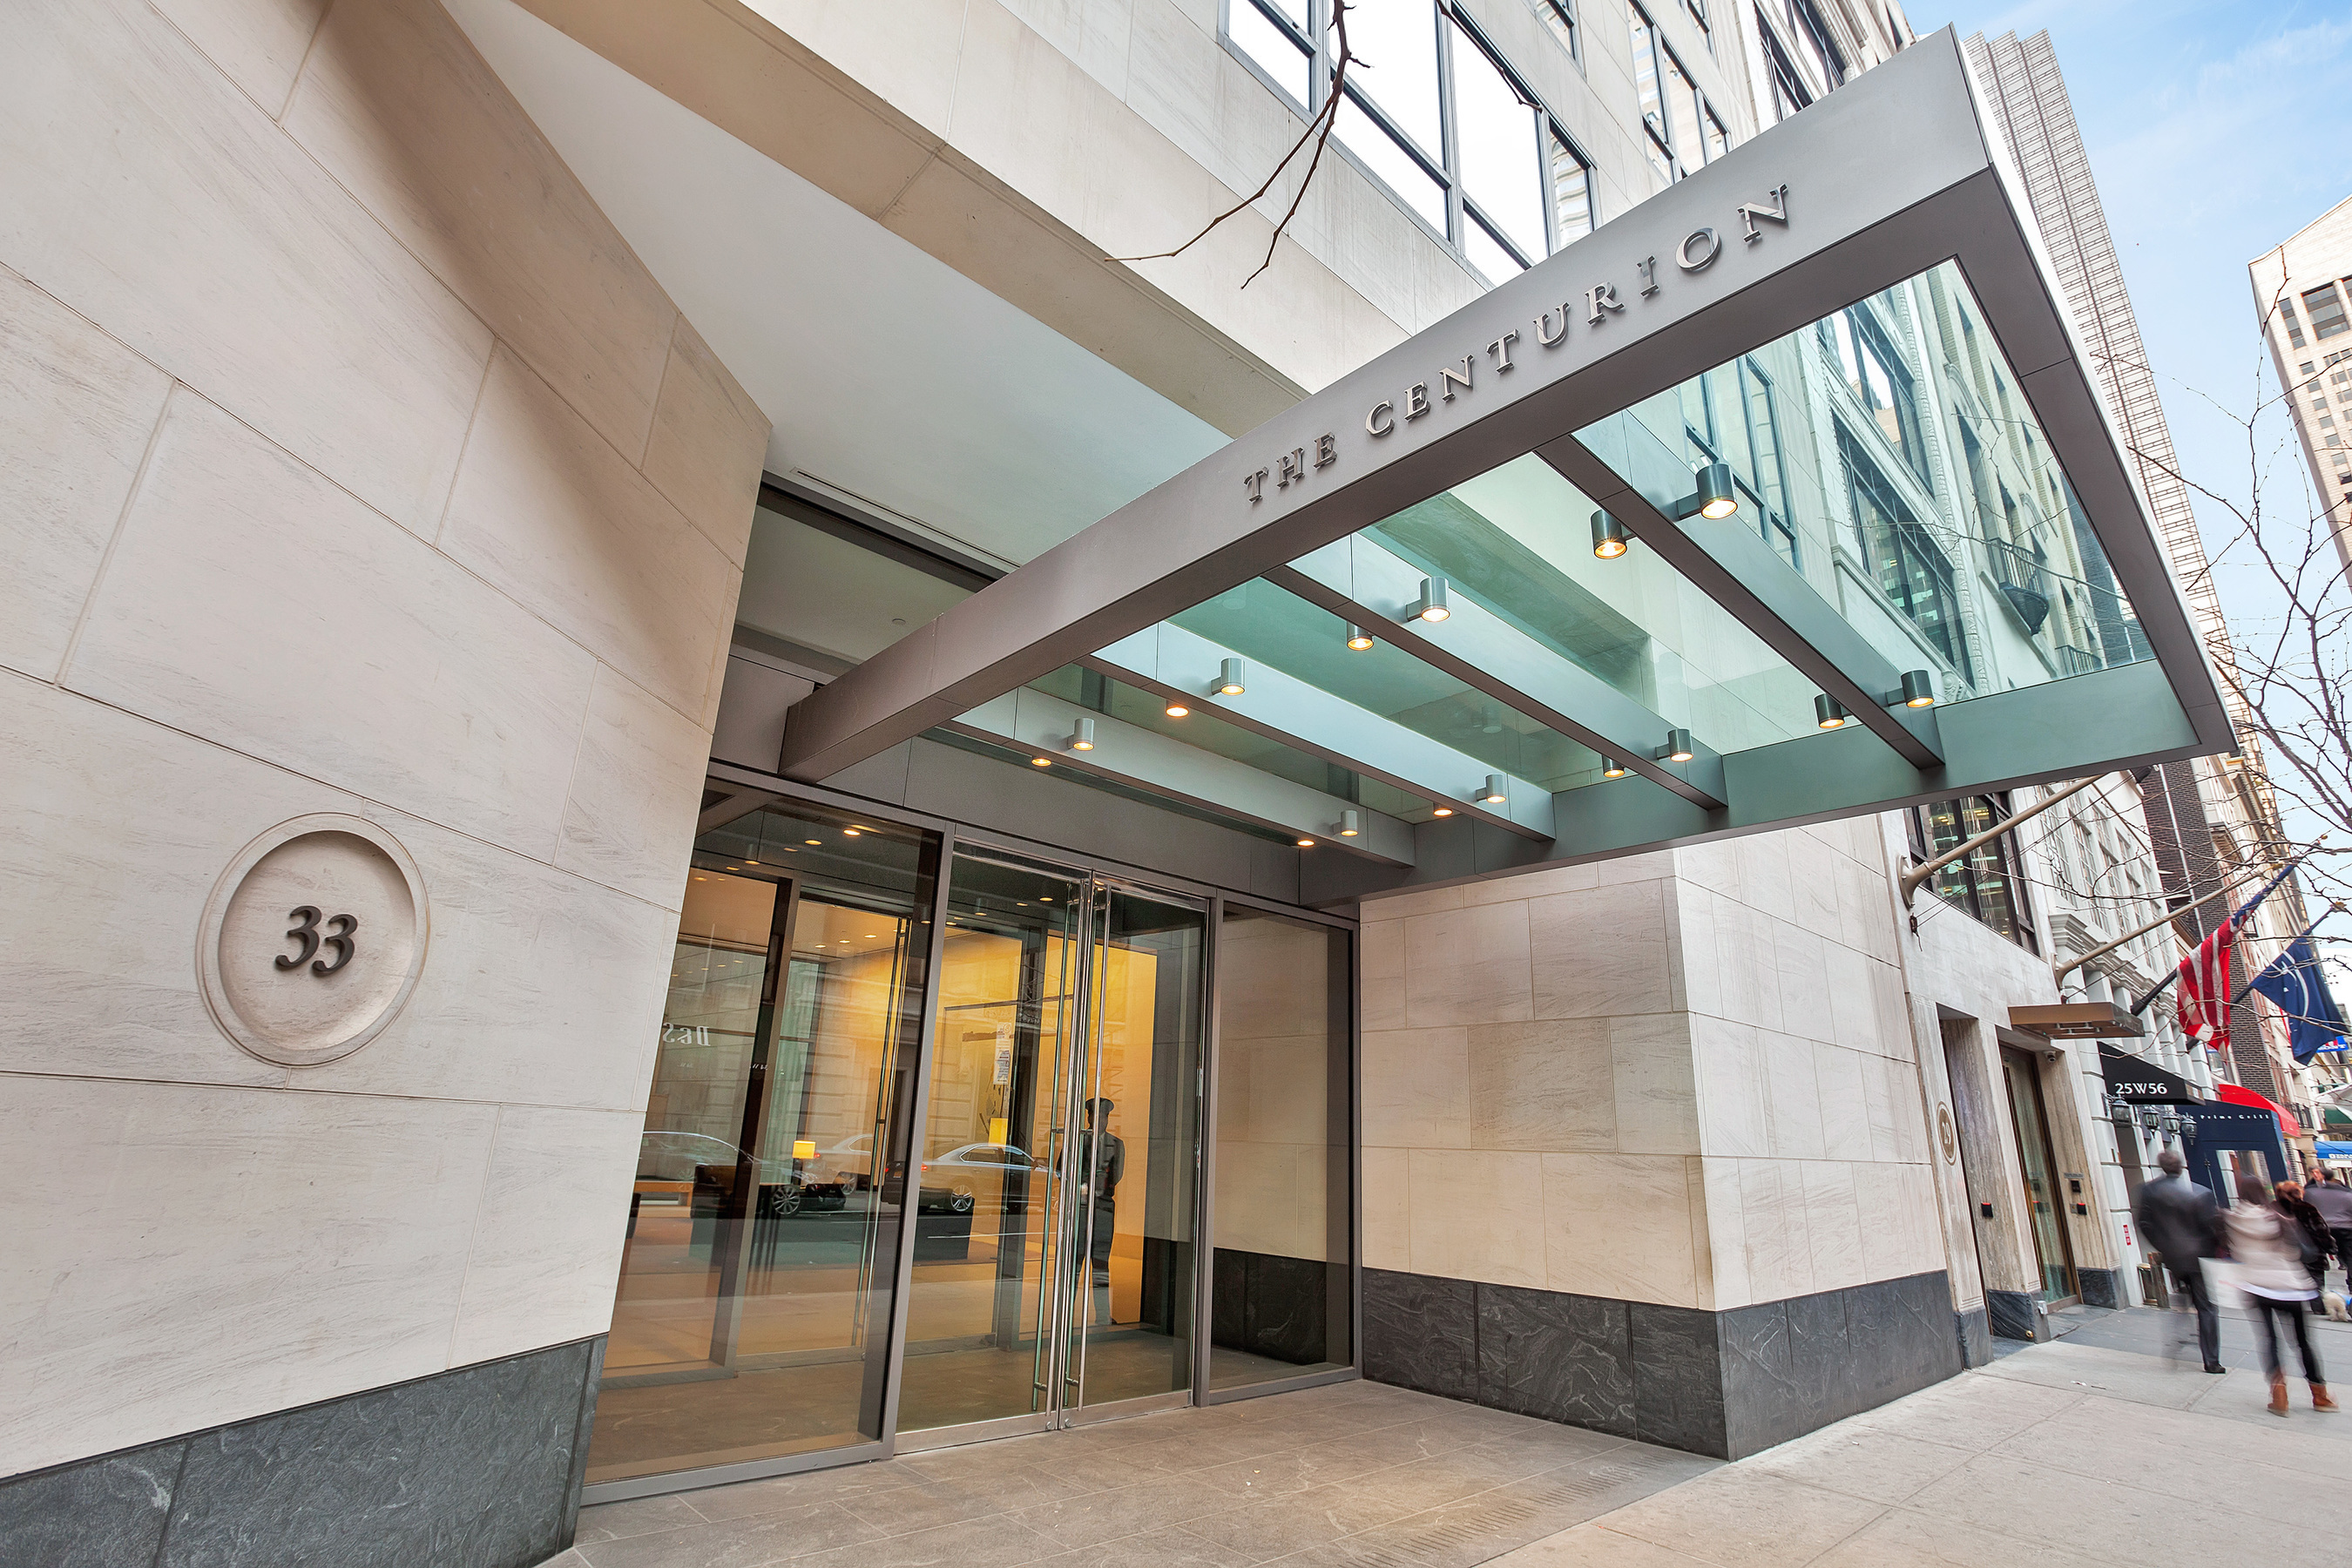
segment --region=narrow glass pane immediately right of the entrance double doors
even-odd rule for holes
[[[1350,936],[1225,905],[1209,1387],[1350,1361]]]

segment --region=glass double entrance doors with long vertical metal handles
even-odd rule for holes
[[[1204,945],[1197,903],[955,858],[898,1432],[1192,1387]]]

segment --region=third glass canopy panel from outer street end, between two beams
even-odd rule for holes
[[[1381,625],[1367,628],[1369,649],[1350,649],[1341,616],[1265,578],[1169,623],[1545,790],[1599,783],[1602,759],[1590,748],[1406,654]],[[1421,820],[1428,811],[1392,816]]]

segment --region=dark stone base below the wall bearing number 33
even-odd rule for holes
[[[0,1479],[42,1568],[529,1568],[572,1544],[604,1340]]]

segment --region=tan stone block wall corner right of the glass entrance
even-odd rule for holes
[[[1364,903],[1364,1262],[1726,1309],[1945,1267],[1870,820]]]

